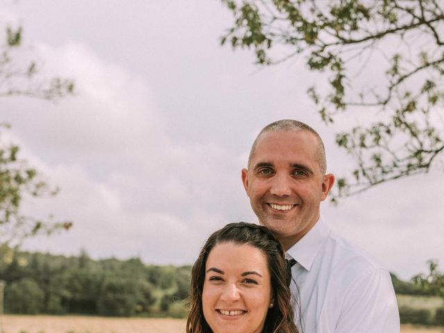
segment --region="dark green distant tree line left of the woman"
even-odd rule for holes
[[[139,258],[92,260],[10,251],[0,260],[10,314],[171,315],[188,296],[191,266],[146,266]],[[173,314],[174,315],[174,314]]]

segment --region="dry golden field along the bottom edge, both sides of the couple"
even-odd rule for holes
[[[185,319],[87,316],[3,316],[1,333],[183,333]],[[402,325],[401,333],[444,333],[444,327]]]

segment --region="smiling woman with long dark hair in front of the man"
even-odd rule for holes
[[[298,333],[291,273],[265,227],[230,223],[214,232],[191,271],[187,333]]]

